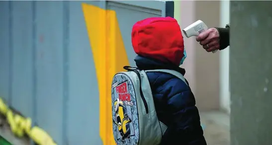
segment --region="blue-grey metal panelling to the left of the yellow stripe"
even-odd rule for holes
[[[81,2],[0,1],[0,96],[59,145],[101,144],[85,27]]]

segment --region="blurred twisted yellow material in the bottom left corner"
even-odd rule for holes
[[[31,128],[31,119],[14,114],[0,98],[0,113],[4,115],[13,134],[21,138],[25,134],[38,145],[57,145],[53,139],[41,128]]]

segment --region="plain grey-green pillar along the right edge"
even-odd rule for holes
[[[272,143],[272,1],[231,1],[231,145]]]

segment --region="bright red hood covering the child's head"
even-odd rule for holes
[[[152,17],[133,25],[132,46],[136,54],[180,65],[184,44],[181,28],[172,17]]]

